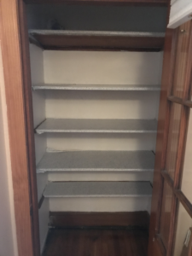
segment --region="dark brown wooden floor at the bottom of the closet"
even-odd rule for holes
[[[147,256],[145,230],[49,231],[43,256]]]

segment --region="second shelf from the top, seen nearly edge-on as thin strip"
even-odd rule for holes
[[[32,90],[133,90],[160,91],[160,85],[138,84],[33,84]]]

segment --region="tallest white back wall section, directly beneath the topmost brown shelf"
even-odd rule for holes
[[[159,84],[161,52],[44,50],[44,82]]]

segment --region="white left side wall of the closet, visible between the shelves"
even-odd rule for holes
[[[32,83],[44,83],[44,60],[43,50],[37,46],[30,44],[30,61],[31,61],[31,74]],[[44,91],[32,92],[32,108],[33,108],[33,121],[34,128],[45,119],[45,96]],[[35,153],[36,163],[41,160],[47,148],[46,135],[39,137],[35,134]],[[48,174],[37,175],[38,185],[38,201],[40,201],[44,188],[48,183]],[[44,242],[48,234],[49,223],[49,201],[45,200],[42,207],[38,210],[39,218],[39,236],[41,251],[44,249]]]

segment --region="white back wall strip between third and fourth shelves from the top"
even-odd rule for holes
[[[154,134],[49,134],[48,148],[56,150],[154,150]]]

